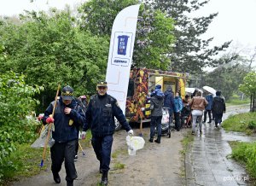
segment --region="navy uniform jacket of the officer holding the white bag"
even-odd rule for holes
[[[131,130],[131,126],[127,123],[125,115],[113,96],[108,94],[91,96],[85,113],[83,131],[90,128],[94,137],[113,135],[115,130],[114,117],[123,125],[125,131]]]

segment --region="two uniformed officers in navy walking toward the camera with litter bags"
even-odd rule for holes
[[[78,177],[74,160],[77,159],[79,148],[79,129],[83,128],[82,138],[90,128],[96,158],[99,160],[99,171],[102,173],[101,184],[108,185],[108,171],[111,160],[113,133],[115,130],[114,117],[119,120],[125,131],[133,136],[131,126],[127,123],[117,100],[107,94],[108,84],[101,81],[96,86],[97,94],[90,97],[87,108],[74,99],[73,88],[65,86],[61,97],[49,104],[44,112],[43,124],[54,123],[52,137],[55,144],[50,148],[51,171],[55,183],[61,183],[59,171],[65,161],[67,186],[73,186],[73,180]],[[80,101],[85,102],[81,96]],[[54,107],[55,105],[55,107]],[[55,109],[55,112],[54,112]],[[85,111],[86,110],[86,111]],[[55,113],[52,117],[52,113]]]

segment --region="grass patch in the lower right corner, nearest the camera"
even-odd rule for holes
[[[230,142],[231,158],[246,167],[250,183],[256,185],[256,142]]]

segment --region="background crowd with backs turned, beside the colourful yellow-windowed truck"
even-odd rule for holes
[[[201,96],[201,91],[195,89],[195,92],[191,95],[191,99],[186,95],[184,99],[181,98],[179,92],[173,96],[172,87],[169,86],[165,93],[161,91],[160,84],[155,86],[155,90],[151,93],[150,99],[150,109],[151,110],[151,122],[150,122],[150,138],[149,142],[153,142],[155,128],[157,129],[158,137],[154,142],[160,143],[161,137],[161,119],[162,119],[162,109],[167,108],[169,112],[169,126],[171,126],[174,115],[175,130],[180,131],[183,124],[183,113],[189,110],[192,118],[192,134],[195,134],[195,125],[199,123],[199,131],[202,133],[202,117],[204,116],[203,123],[207,121],[207,114],[209,121],[215,122],[215,127],[222,122],[223,113],[226,111],[224,98],[221,96],[221,91],[216,91],[216,96],[210,92],[207,92],[207,96]],[[143,108],[144,110],[144,108]],[[191,113],[190,113],[191,111]],[[183,121],[183,122],[181,122]]]

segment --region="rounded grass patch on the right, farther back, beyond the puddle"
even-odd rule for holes
[[[222,123],[226,131],[241,131],[251,135],[256,132],[256,113],[239,113],[230,116]]]

